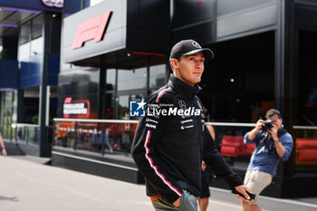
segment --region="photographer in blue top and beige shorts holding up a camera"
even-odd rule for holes
[[[257,196],[269,186],[275,175],[276,167],[282,159],[286,161],[293,149],[293,138],[283,129],[279,110],[268,110],[266,121],[258,120],[255,129],[245,134],[245,144],[256,143],[249,166],[245,173],[245,185],[256,195],[252,203],[242,200],[243,210],[261,210],[256,205]]]

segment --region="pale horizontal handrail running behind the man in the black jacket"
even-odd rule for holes
[[[138,120],[99,120],[99,119],[66,119],[54,118],[54,121],[82,121],[82,122],[99,122],[99,123],[138,123]],[[233,126],[233,127],[255,127],[255,123],[242,122],[206,122],[214,126]]]

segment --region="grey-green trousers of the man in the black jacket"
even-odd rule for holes
[[[179,207],[168,203],[164,198],[152,201],[156,211],[197,211],[197,197],[191,195],[187,190],[183,190],[183,194],[179,200]]]

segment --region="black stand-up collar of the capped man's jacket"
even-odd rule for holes
[[[193,98],[195,94],[197,94],[197,92],[203,90],[197,84],[195,84],[194,87],[190,86],[186,82],[183,82],[180,79],[178,79],[178,77],[176,77],[173,74],[170,75],[168,87],[173,88],[173,90],[178,91],[179,93],[185,95],[189,99]]]

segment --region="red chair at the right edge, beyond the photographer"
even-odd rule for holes
[[[296,164],[317,164],[317,139],[296,139]]]

